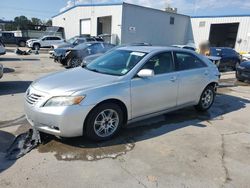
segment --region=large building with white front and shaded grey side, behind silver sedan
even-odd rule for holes
[[[76,35],[112,35],[112,43],[153,45],[193,41],[190,17],[128,3],[76,5],[52,18],[68,39]]]

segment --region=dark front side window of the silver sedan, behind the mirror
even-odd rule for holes
[[[142,69],[151,69],[155,74],[164,74],[174,71],[174,63],[170,52],[158,54],[152,57]]]

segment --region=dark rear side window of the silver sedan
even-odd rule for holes
[[[206,67],[206,64],[193,54],[176,52],[175,58],[178,70],[189,70],[195,68]]]

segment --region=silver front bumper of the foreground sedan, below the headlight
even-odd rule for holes
[[[41,132],[61,137],[83,134],[84,121],[94,106],[37,107],[25,101],[29,123]]]

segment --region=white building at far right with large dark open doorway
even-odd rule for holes
[[[208,40],[212,46],[250,52],[250,15],[191,18],[196,46]]]

